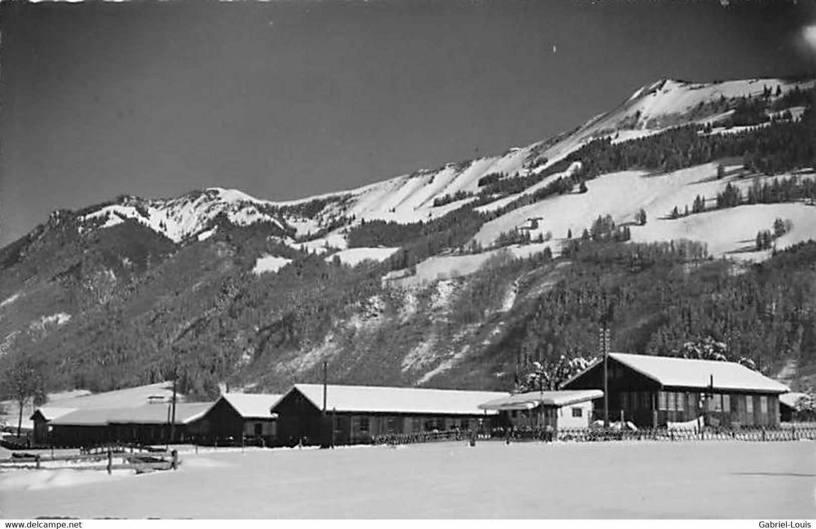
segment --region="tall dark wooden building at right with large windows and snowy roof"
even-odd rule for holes
[[[639,427],[704,421],[707,425],[776,426],[787,386],[734,362],[610,353],[610,421]],[[566,381],[565,390],[603,390],[604,362],[596,359]],[[601,418],[603,403],[600,403]]]

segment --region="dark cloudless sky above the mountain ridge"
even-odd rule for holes
[[[2,2],[0,20],[0,246],[122,193],[282,200],[503,152],[661,77],[816,71],[801,1]]]

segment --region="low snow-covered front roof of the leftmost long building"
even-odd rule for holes
[[[202,417],[213,403],[176,403],[175,424],[188,424]],[[66,413],[51,421],[52,425],[98,426],[108,424],[166,424],[170,421],[170,404],[145,404],[138,408],[86,408]]]

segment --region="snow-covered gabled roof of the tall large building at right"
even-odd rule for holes
[[[735,362],[718,360],[697,360],[673,358],[669,356],[628,355],[610,353],[610,358],[632,368],[641,375],[657,381],[662,386],[686,387],[705,390],[714,378],[715,390],[745,390],[766,393],[787,393],[784,384],[765,377]],[[566,381],[562,386],[582,377],[590,369],[601,364],[596,359],[587,369]]]

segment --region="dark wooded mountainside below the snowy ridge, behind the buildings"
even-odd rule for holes
[[[295,377],[317,376],[313,351],[330,352],[339,381],[414,383],[411,369],[423,364],[409,369],[405,359],[430,336],[428,347],[451,356],[464,348],[472,352],[429,385],[509,389],[513,366],[592,355],[604,320],[616,350],[676,355],[685,342],[714,339],[734,358],[753,359],[769,374],[789,361],[812,370],[814,242],[761,264],[737,266],[708,258],[704,245],[694,241],[625,242],[628,228],[614,227],[607,212],[599,211],[596,225],[570,240],[561,258],[540,253],[512,259],[500,253],[476,274],[451,280],[443,308],[438,284],[410,293],[382,280],[389,271],[410,273],[432,255],[481,251],[472,237],[484,223],[548,196],[582,192],[588,179],[601,174],[677,170],[723,158],[765,174],[814,167],[814,90],[783,97],[805,107],[798,119],[768,116],[782,99],[726,102],[734,110],[732,125],[747,128],[718,133],[710,124],[697,124],[622,143],[594,139],[539,173],[489,174],[479,192],[443,197],[466,203],[441,218],[351,226],[348,218],[332,221],[348,226],[351,248],[400,248],[382,263],[349,267],[326,261],[276,243],[277,232],[260,225],[224,224],[211,239],[174,245],[133,222],[98,236],[66,235],[69,224],[54,218],[3,249],[0,266],[14,280],[44,275],[44,300],[53,294],[82,311],[59,332],[43,328],[16,336],[14,352],[0,363],[5,371],[23,359],[32,363],[49,390],[113,390],[178,378],[184,392],[204,399],[216,395],[224,381],[280,390]],[[524,192],[567,170],[569,175]],[[813,200],[816,192],[811,180],[792,178],[757,184],[744,198],[734,189],[725,187],[717,207]],[[503,208],[476,209],[510,194],[518,196]],[[344,200],[299,204],[292,212],[317,215]],[[518,242],[523,241],[517,234],[503,234],[494,246]],[[270,252],[291,262],[277,273],[252,273],[255,259]],[[42,259],[24,267],[27,255]],[[107,270],[116,279],[99,289],[97,279]],[[499,310],[511,290],[520,301]]]

